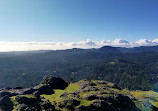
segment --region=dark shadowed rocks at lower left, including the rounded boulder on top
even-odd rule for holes
[[[11,111],[13,103],[11,97],[14,97],[17,111],[55,111],[55,106],[49,100],[43,101],[42,94],[54,94],[54,89],[65,89],[68,83],[61,78],[45,76],[41,83],[32,88],[4,88],[0,90],[0,111]],[[74,100],[74,104],[77,102]],[[16,105],[15,104],[15,105]]]

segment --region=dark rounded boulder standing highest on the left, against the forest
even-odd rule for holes
[[[49,84],[53,89],[65,89],[68,86],[63,79],[54,76],[45,76],[41,84]]]

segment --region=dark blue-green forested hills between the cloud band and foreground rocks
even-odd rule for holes
[[[157,90],[158,49],[153,47],[68,49],[7,53],[0,57],[0,87],[31,87],[44,75],[65,80],[101,79],[122,88]],[[6,53],[5,53],[6,54]]]

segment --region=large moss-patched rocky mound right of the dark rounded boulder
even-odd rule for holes
[[[115,84],[98,82],[79,81],[76,83],[80,87],[78,90],[64,92],[55,104],[68,111],[139,111],[128,96],[120,94],[121,90]]]

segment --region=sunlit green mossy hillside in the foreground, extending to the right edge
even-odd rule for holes
[[[34,99],[40,105],[42,102],[49,101],[55,107],[55,110],[58,111],[90,111],[90,109],[92,111],[93,109],[103,111],[104,108],[107,108],[107,111],[117,111],[118,109],[121,109],[121,111],[158,110],[157,92],[141,90],[129,91],[127,89],[120,89],[114,83],[106,81],[81,80],[70,83],[64,90],[54,89],[54,91],[54,94],[40,95],[40,100],[34,94],[18,96]],[[13,102],[13,111],[19,110],[18,108],[22,103],[17,101],[17,96],[10,98]],[[34,102],[25,104],[29,108],[37,107],[37,104]]]

